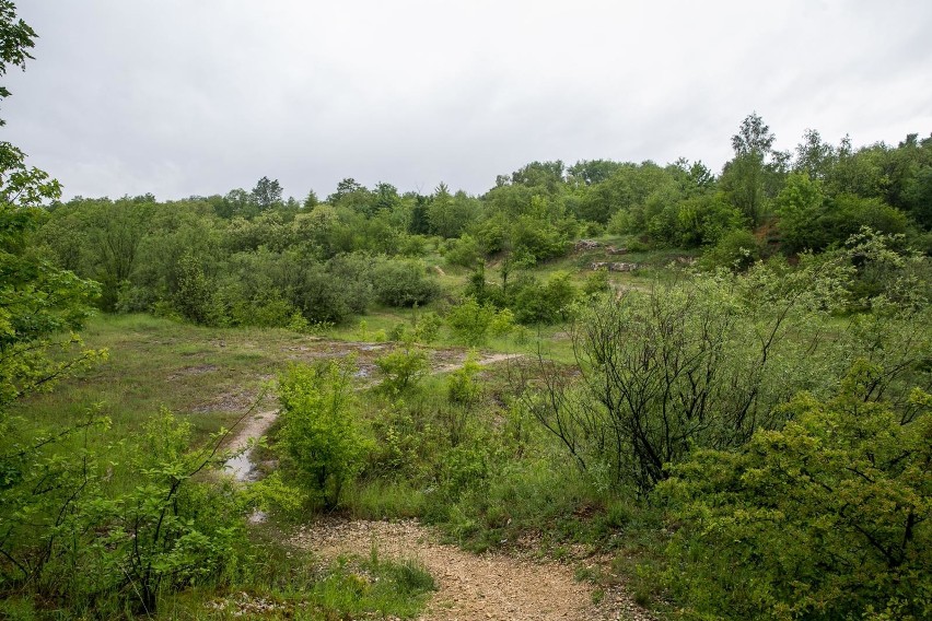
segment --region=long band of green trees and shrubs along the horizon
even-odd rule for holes
[[[511,272],[602,234],[626,236],[636,250],[698,248],[711,267],[823,251],[863,226],[932,249],[932,138],[854,149],[811,130],[794,153],[774,151],[773,141],[752,114],[718,176],[684,159],[533,162],[479,197],[444,184],[430,195],[400,194],[347,178],[325,200],[312,191],[299,202],[268,177],[251,191],[163,202],[79,197],[47,206],[34,244],[60,268],[100,282],[104,310],[265,326],[430,302],[440,293],[423,263],[431,253],[477,271],[494,262],[508,290]],[[511,296],[494,301],[513,303],[531,280],[513,280]]]

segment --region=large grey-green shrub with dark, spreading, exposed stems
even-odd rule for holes
[[[573,326],[581,382],[541,356],[525,405],[582,469],[649,490],[694,446],[738,446],[779,426],[773,407],[813,380],[800,360],[819,342],[807,323],[846,273],[759,266],[602,300]]]

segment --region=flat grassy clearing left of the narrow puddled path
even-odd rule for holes
[[[95,317],[83,338],[88,348],[107,349],[108,360],[23,400],[13,414],[65,425],[95,408],[116,430],[138,430],[164,407],[202,438],[232,424],[300,348],[315,347],[287,330],[203,328],[147,315]]]

